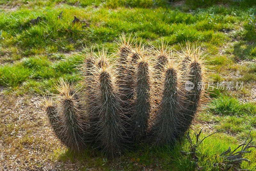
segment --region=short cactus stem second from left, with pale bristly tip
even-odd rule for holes
[[[71,149],[81,151],[85,148],[84,128],[86,125],[81,120],[84,114],[79,101],[79,93],[73,84],[69,85],[61,80],[60,85],[60,87],[57,87],[57,90],[60,92],[58,106],[63,119],[62,131],[66,136],[64,144]]]

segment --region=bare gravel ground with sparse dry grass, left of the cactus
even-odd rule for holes
[[[0,93],[0,170],[76,170],[77,161],[58,160],[66,149],[55,139],[38,99]]]

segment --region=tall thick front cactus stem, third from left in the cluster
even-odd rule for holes
[[[106,52],[100,53],[101,58],[106,59]],[[104,60],[105,61],[105,60]],[[121,138],[123,127],[121,124],[120,98],[117,92],[115,70],[111,66],[102,66],[96,72],[98,79],[98,104],[100,111],[100,148],[109,155],[117,155],[121,151]]]

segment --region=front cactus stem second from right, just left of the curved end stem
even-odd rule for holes
[[[156,144],[173,143],[174,132],[176,129],[176,118],[180,108],[179,82],[180,73],[174,63],[167,62],[164,68],[164,81],[161,90],[161,101],[158,105],[156,122],[153,125]]]

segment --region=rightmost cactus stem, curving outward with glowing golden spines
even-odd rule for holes
[[[176,132],[174,132],[175,140],[180,140],[185,132],[189,129],[192,120],[196,116],[201,101],[204,100],[204,82],[207,81],[206,68],[204,61],[201,59],[199,48],[195,48],[188,43],[182,48],[183,54],[179,54],[181,61],[180,73],[185,78],[181,81],[180,90],[180,110],[176,118]],[[190,85],[190,86],[188,86]]]

